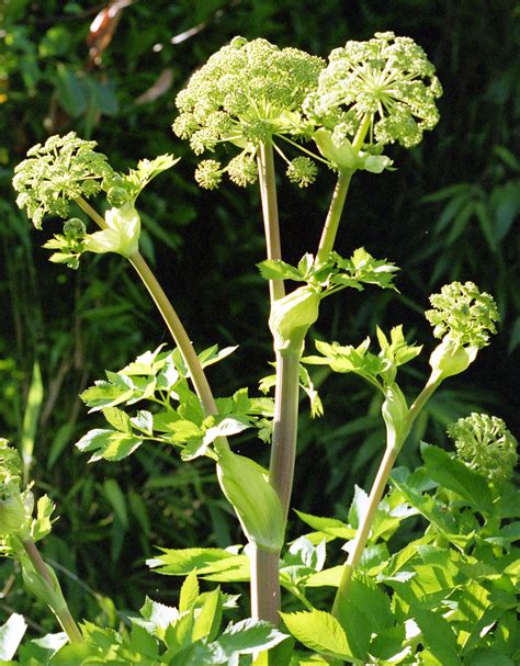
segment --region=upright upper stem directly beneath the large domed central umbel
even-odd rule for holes
[[[276,180],[274,177],[274,156],[272,144],[260,144],[257,156],[258,181],[262,200],[263,225],[268,259],[282,258],[280,225],[278,219]],[[270,280],[269,292],[271,302],[282,298],[285,294],[283,280]]]

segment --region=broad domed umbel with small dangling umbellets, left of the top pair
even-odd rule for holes
[[[214,150],[222,142],[241,148],[240,160],[229,165],[229,176],[240,185],[248,184],[257,177],[250,162],[260,143],[275,135],[302,134],[302,103],[324,66],[321,58],[297,48],[235,37],[178,94],[180,115],[173,132],[190,139],[196,155]],[[214,166],[201,165],[202,187],[216,187],[215,169],[210,173]]]

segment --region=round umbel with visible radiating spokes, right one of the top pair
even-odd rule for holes
[[[304,109],[337,148],[354,144],[357,151],[380,155],[395,142],[406,148],[417,145],[439,120],[436,99],[441,94],[422,48],[385,32],[332,50]]]

